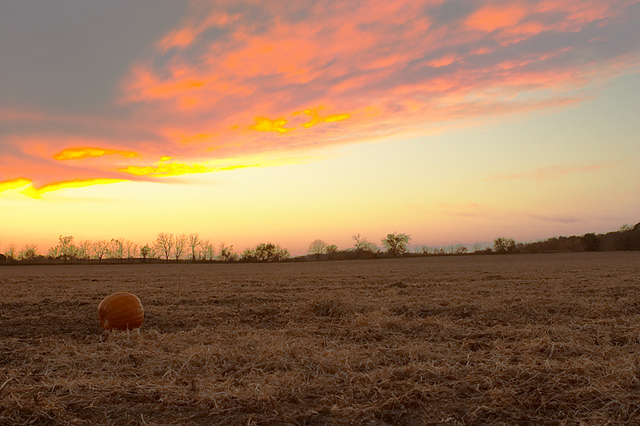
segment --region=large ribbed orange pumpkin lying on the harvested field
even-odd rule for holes
[[[135,294],[121,291],[102,299],[98,319],[105,330],[132,330],[142,325],[144,310]]]

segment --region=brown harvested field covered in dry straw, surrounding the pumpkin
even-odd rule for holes
[[[0,267],[1,425],[640,424],[640,253]],[[145,321],[103,332],[100,300]]]

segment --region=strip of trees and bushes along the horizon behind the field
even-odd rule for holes
[[[381,247],[361,234],[351,236],[353,245],[340,250],[337,245],[321,239],[309,244],[307,254],[292,257],[286,248],[272,242],[262,242],[237,253],[233,245],[224,242],[214,245],[199,234],[171,234],[160,232],[156,239],[144,245],[124,238],[111,240],[75,241],[72,235],[60,235],[58,243],[46,254],[38,251],[36,244],[25,244],[18,249],[8,244],[0,262],[47,263],[47,262],[282,262],[291,260],[347,260],[383,257],[409,257],[427,255],[460,254],[517,254],[580,251],[629,251],[640,250],[640,223],[623,225],[606,234],[587,233],[581,236],[553,237],[546,240],[522,243],[512,238],[499,237],[493,245],[481,248],[474,244],[472,251],[463,244],[431,248],[426,245],[409,250],[411,237],[405,233],[389,233],[381,239]]]

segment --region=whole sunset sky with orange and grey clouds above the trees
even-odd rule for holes
[[[640,222],[640,0],[0,0],[0,252]]]

